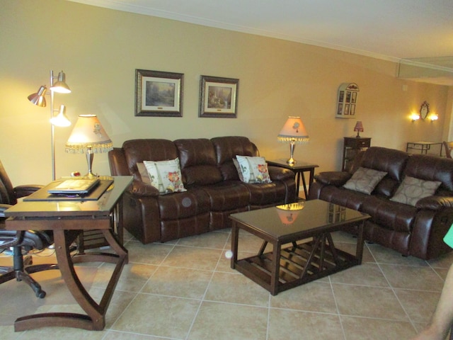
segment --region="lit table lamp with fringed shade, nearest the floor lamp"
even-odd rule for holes
[[[86,152],[86,162],[88,163],[88,174],[86,176],[93,177],[96,176],[91,171],[93,153],[109,152],[111,149],[113,149],[113,143],[98,117],[96,115],[79,115],[64,151],[71,154]]]

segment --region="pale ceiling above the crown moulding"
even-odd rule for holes
[[[453,85],[452,0],[69,1],[402,61],[400,77]]]

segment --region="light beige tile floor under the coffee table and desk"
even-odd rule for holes
[[[144,245],[127,234],[130,263],[103,331],[46,327],[14,332],[17,317],[81,309],[59,271],[33,274],[47,291],[44,299],[24,283],[4,283],[0,339],[411,339],[430,319],[453,262],[453,254],[422,261],[366,244],[361,266],[272,296],[230,268],[224,256],[230,237],[226,229]],[[334,240],[341,249],[355,249],[356,239],[349,234],[337,233]],[[240,256],[250,256],[259,246],[259,239],[241,232]],[[54,261],[52,254],[44,254],[35,254],[35,263]],[[0,256],[1,264],[8,261],[10,257]],[[99,300],[112,268],[91,263],[76,266],[76,271]]]

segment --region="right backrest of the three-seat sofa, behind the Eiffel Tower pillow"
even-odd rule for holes
[[[217,166],[224,181],[239,181],[238,171],[234,166],[233,158],[241,156],[259,156],[258,148],[247,137],[226,136],[211,139],[216,154]]]

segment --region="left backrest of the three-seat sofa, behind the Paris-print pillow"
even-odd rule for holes
[[[141,179],[137,163],[167,161],[178,157],[178,150],[171,140],[127,140],[122,144],[127,167],[134,179]]]

